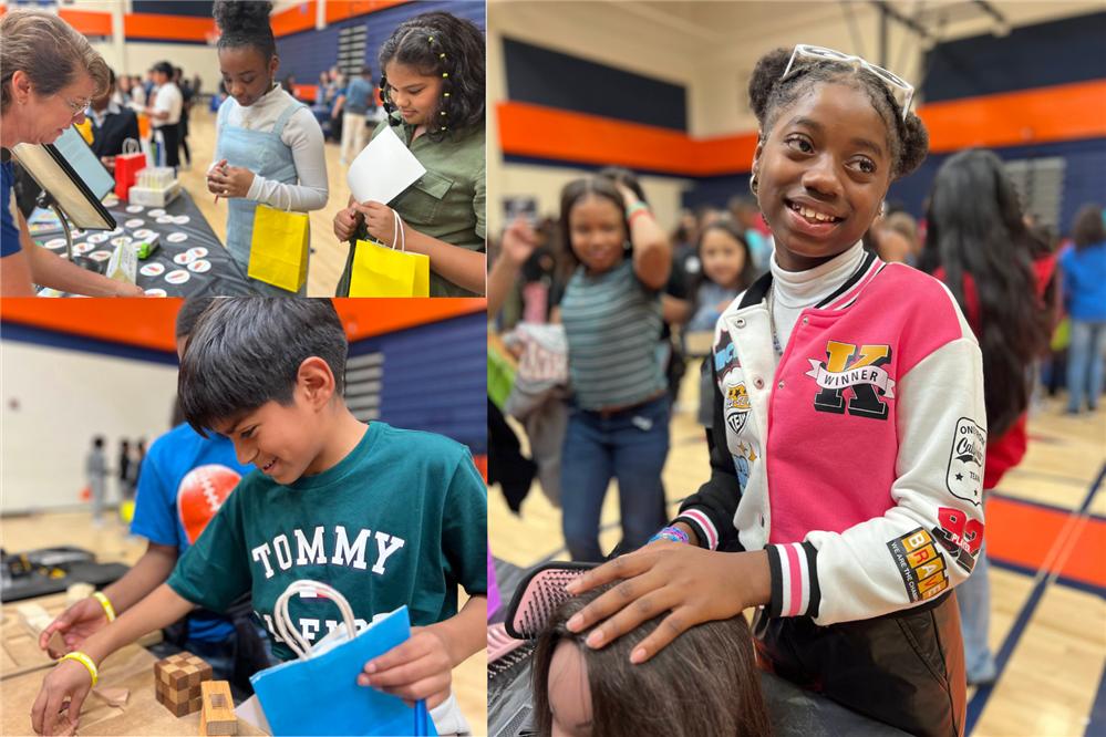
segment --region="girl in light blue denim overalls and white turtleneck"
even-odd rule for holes
[[[227,250],[242,272],[249,270],[259,205],[306,212],[321,209],[329,198],[322,129],[307,105],[273,84],[279,61],[266,10],[270,4],[216,0],[213,9],[223,30],[219,66],[229,96],[219,108],[216,163],[207,186],[228,199]],[[300,108],[308,112],[296,115]],[[298,292],[257,279],[250,286],[261,297],[307,294],[307,282]]]

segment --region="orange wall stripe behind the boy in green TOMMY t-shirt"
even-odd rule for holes
[[[183,300],[0,300],[0,320],[155,351],[176,351]],[[334,300],[351,341],[487,310],[487,300]]]

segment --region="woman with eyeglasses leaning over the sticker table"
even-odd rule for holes
[[[143,297],[59,258],[31,240],[15,207],[11,149],[51,144],[84,123],[89,101],[108,87],[107,64],[73,27],[44,10],[0,18],[0,297],[34,297],[34,284],[87,297]]]

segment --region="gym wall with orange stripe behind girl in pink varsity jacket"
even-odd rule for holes
[[[789,4],[712,3],[710,11],[701,6],[699,12],[716,14],[717,22],[707,31],[702,25],[688,25],[674,15],[653,17],[649,8],[597,8],[590,3],[552,12],[542,3],[496,4],[488,31],[493,139],[499,143],[488,152],[493,191],[535,196],[539,207],[552,214],[566,181],[601,164],[617,163],[653,175],[647,177],[647,189],[655,193],[650,194],[651,204],[665,228],[674,226],[682,206],[724,205],[733,195],[747,193],[756,121],[745,90],[756,60],[772,49],[794,45],[796,41],[878,60],[879,23],[870,3],[804,3],[803,11],[795,17],[787,13]],[[936,50],[927,50],[916,37],[908,38],[900,24],[888,23],[888,65],[919,87],[916,107],[921,107],[922,117],[928,122],[931,117],[937,120],[931,124],[936,126],[936,154],[921,172],[893,185],[891,197],[902,200],[911,210],[920,210],[932,179],[930,167],[936,172],[948,153],[969,145],[1015,146],[1009,152],[1000,150],[1006,158],[1044,156],[1042,146],[1045,146],[1047,155],[1067,157],[1061,218],[1062,225],[1066,225],[1084,193],[1094,191],[1094,187],[1106,190],[1106,180],[1096,174],[1104,170],[1100,163],[1106,155],[1104,146],[1088,143],[1106,134],[1106,117],[1096,115],[1092,107],[1083,116],[1087,125],[1073,129],[1077,126],[1072,121],[1057,125],[1054,120],[1043,121],[1038,114],[1034,115],[1042,107],[1040,97],[995,100],[992,95],[1045,82],[1052,85],[1044,91],[1048,93],[1045,101],[1072,97],[1071,91],[1064,89],[1058,89],[1055,97],[1050,95],[1058,80],[1085,82],[1095,74],[1100,76],[1106,65],[1094,62],[1104,53],[1103,46],[1099,42],[1096,49],[1091,49],[1091,39],[1100,39],[1104,32],[1098,30],[1098,15],[1085,14],[1087,3],[1000,1],[996,6],[1011,24],[1032,24],[1032,28],[1014,28],[1009,35],[996,38],[989,18],[964,19],[945,29],[943,38],[949,41]],[[686,10],[693,11],[694,8]],[[849,12],[855,22],[850,22]],[[1072,18],[1078,13],[1083,14]],[[1073,33],[1073,29],[1078,33]],[[537,51],[527,49],[520,54],[519,44]],[[1006,51],[996,61],[999,49]],[[973,50],[975,56],[970,55]],[[1054,53],[1057,63],[1037,69],[1034,60],[1050,53]],[[540,68],[527,63],[528,59],[540,59],[542,54],[555,61],[558,54],[578,61],[547,63],[545,68],[552,71],[544,80],[540,73],[535,73]],[[1075,59],[1082,61],[1074,63]],[[597,72],[596,66],[607,71]],[[515,73],[516,68],[521,73]],[[1073,73],[1069,71],[1073,68],[1078,71]],[[559,73],[569,69],[580,71],[575,75]],[[1006,80],[1006,86],[994,83],[970,86],[975,69],[991,75],[998,73]],[[928,85],[922,84],[926,70],[930,70]],[[1003,70],[1011,73],[1002,76]],[[649,111],[648,104],[643,114],[641,101],[613,108],[611,102],[635,86],[612,84],[626,73],[644,77],[654,85],[669,83],[682,87],[684,131],[675,129],[671,123],[666,125],[655,111]],[[950,75],[958,73],[964,79],[953,83]],[[513,82],[511,76],[528,79],[527,94],[515,92],[523,85]],[[639,82],[637,86],[649,83]],[[970,97],[950,100],[949,93],[942,96],[937,92],[939,87],[963,89],[965,84]],[[1095,100],[1095,93],[1084,89],[1075,95],[1084,112]],[[589,102],[602,98],[603,94],[607,108]],[[926,107],[927,94],[941,98],[937,105]],[[981,104],[976,104],[975,97],[980,97]],[[661,98],[662,95],[653,93],[647,95],[647,103],[659,105]],[[1019,120],[1021,113],[1031,114],[1029,132],[990,125],[998,116],[1009,127],[1011,120]],[[1096,122],[1096,117],[1103,120]],[[1099,127],[1103,133],[1096,133]],[[503,226],[502,205],[493,204],[488,217],[493,232],[497,232]]]

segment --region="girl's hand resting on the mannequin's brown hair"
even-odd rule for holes
[[[661,626],[630,655],[630,662],[644,663],[696,624],[727,620],[748,606],[768,603],[772,580],[767,559],[763,550],[720,553],[659,540],[569,583],[568,592],[578,594],[622,580],[573,615],[568,629],[581,632],[602,621],[587,641],[591,647],[602,647],[669,612]]]

